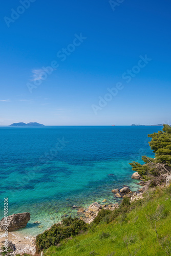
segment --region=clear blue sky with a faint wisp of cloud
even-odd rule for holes
[[[169,0],[1,4],[0,125],[171,123]]]

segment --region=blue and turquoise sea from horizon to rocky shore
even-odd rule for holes
[[[0,127],[1,217],[8,197],[9,215],[31,213],[19,232],[33,236],[63,215],[76,215],[73,205],[116,202],[112,189],[136,190],[129,162],[154,156],[147,135],[159,130],[162,126]]]

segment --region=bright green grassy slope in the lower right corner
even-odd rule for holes
[[[151,188],[144,199],[123,206],[112,222],[92,224],[86,233],[48,248],[45,256],[171,255],[171,200],[165,189]]]

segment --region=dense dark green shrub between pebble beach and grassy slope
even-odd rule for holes
[[[38,234],[36,237],[36,249],[38,252],[48,249],[52,245],[57,245],[63,239],[75,236],[80,231],[86,231],[87,229],[88,225],[84,221],[68,217],[63,219],[62,224],[54,224],[49,230]]]

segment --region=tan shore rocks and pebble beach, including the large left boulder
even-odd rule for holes
[[[143,193],[148,190],[149,186],[151,185],[151,181],[142,181],[142,177],[138,173],[134,173],[132,179],[141,180],[138,184],[141,188],[138,191],[131,191],[129,186],[123,186],[122,188],[114,188],[112,189],[111,193],[113,193],[116,199],[121,199],[124,197],[129,197],[130,201],[135,201],[139,199],[143,199]],[[168,177],[169,183],[171,180]],[[166,184],[167,185],[167,184]],[[92,203],[88,208],[84,209],[81,206],[74,205],[72,208],[77,209],[77,217],[82,219],[84,222],[90,224],[95,217],[98,215],[98,212],[101,209],[109,209],[111,211],[115,210],[119,207],[119,203],[106,203],[107,200],[104,199],[102,201],[104,204],[100,204],[98,202]],[[13,214],[8,217],[8,247],[12,250],[9,255],[16,255],[16,254],[24,254],[28,253],[30,255],[35,255],[36,248],[35,248],[35,237],[22,237],[18,234],[14,234],[11,231],[18,230],[20,228],[26,227],[28,221],[30,220],[30,213],[24,212],[22,214]],[[0,231],[4,231],[6,223],[4,218],[0,221]],[[0,236],[0,248],[4,246],[5,243],[5,234],[2,233]],[[2,250],[0,249],[0,252]]]

